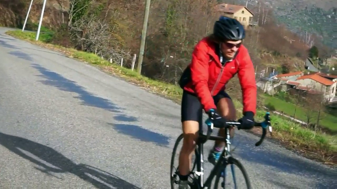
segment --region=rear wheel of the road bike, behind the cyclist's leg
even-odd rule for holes
[[[171,181],[171,189],[178,189],[178,183],[179,183],[179,152],[181,150],[182,144],[183,144],[184,135],[181,134],[177,140],[175,141],[172,156],[171,156],[171,165],[170,165],[170,181]],[[178,147],[180,144],[180,147]],[[177,152],[177,150],[179,150]],[[193,166],[191,169],[191,173],[194,172],[194,169],[196,168],[196,158],[192,156],[192,162]]]

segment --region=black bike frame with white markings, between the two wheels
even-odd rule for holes
[[[226,138],[225,137],[218,137],[218,136],[210,136],[208,140],[211,141],[226,141],[226,147],[223,150],[217,164],[213,167],[210,175],[208,176],[208,178],[206,179],[206,181],[204,182],[204,178],[203,178],[203,143],[206,142],[206,138],[207,136],[203,134],[202,129],[199,130],[199,138],[198,138],[198,142],[197,142],[197,149],[196,151],[196,162],[197,162],[197,171],[195,172],[195,174],[198,177],[198,185],[201,187],[200,189],[209,189],[209,186],[212,183],[212,180],[214,179],[214,177],[219,174],[219,172],[221,171],[222,168],[225,169],[225,167],[222,167],[222,165],[226,164],[226,160],[231,157],[230,154],[230,135],[229,135],[229,128],[225,127],[225,133],[226,133]],[[226,155],[225,155],[226,153]],[[234,174],[234,173],[233,173]]]

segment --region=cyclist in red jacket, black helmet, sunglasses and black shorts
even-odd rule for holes
[[[188,189],[192,152],[202,125],[202,109],[215,112],[214,124],[236,120],[236,109],[225,84],[238,74],[243,95],[242,128],[253,128],[256,113],[256,84],[253,63],[242,44],[245,29],[237,20],[220,17],[214,24],[213,34],[200,40],[192,53],[192,61],[180,78],[183,88],[181,121],[184,133],[179,156],[179,189]],[[234,135],[231,129],[231,137]],[[221,129],[218,136],[225,137]],[[225,142],[216,141],[208,161],[215,165]]]

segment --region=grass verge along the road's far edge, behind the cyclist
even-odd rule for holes
[[[88,64],[97,66],[103,71],[121,76],[134,84],[138,84],[152,93],[161,94],[178,103],[180,102],[182,90],[176,85],[149,79],[138,74],[136,71],[110,64],[108,61],[103,60],[92,53],[45,43],[42,37],[40,38],[41,41],[37,42],[35,41],[35,33],[33,32],[7,31],[6,34],[49,49],[63,52],[70,58],[76,58]],[[234,100],[234,103],[237,107],[238,114],[240,115],[242,112],[242,104],[237,100]],[[264,114],[265,111],[258,110],[256,119],[262,120]],[[319,160],[326,164],[337,165],[337,137],[311,131],[278,115],[271,115],[271,118],[273,126],[272,138],[279,140],[285,144],[287,148],[296,150],[306,157]],[[258,133],[260,130],[253,129],[253,132]]]

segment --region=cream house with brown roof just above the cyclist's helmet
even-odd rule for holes
[[[234,18],[247,28],[253,21],[254,14],[245,6],[233,4],[218,4],[218,10],[224,16]]]

